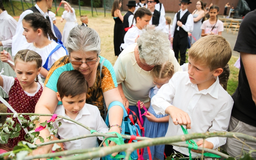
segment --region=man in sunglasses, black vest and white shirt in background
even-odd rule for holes
[[[156,29],[158,30],[164,30],[165,28],[165,17],[161,14],[161,12],[155,10],[156,1],[155,0],[148,0],[148,9],[151,11],[153,16],[151,17],[151,20],[149,21],[149,25],[155,25]]]

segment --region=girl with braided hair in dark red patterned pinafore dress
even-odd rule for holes
[[[35,106],[43,91],[37,79],[41,71],[42,58],[32,50],[20,50],[14,58],[14,70],[17,78],[1,75],[0,86],[9,95],[9,104],[17,113],[34,113]],[[13,113],[7,108],[8,113]],[[7,116],[8,118],[11,115]],[[29,119],[28,116],[24,118]],[[13,127],[19,123],[17,118],[13,118]],[[29,127],[27,128],[29,129]],[[18,137],[9,139],[8,144],[13,148],[20,141],[25,141],[25,130],[21,129]]]

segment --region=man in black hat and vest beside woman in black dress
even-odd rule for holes
[[[132,25],[135,25],[135,20],[133,20],[134,14],[133,12],[135,11],[135,7],[136,7],[136,1],[128,1],[128,12],[126,13],[126,15],[124,15],[124,19],[123,19],[123,36],[126,34],[126,32],[128,31],[128,29],[130,27],[132,27]]]

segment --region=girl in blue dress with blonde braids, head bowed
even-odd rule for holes
[[[160,87],[164,84],[167,84],[174,74],[174,65],[170,62],[165,62],[162,65],[154,66],[152,70],[153,74],[153,83],[156,85],[151,88],[149,91],[150,99],[157,94]],[[145,105],[148,108],[148,114],[146,114],[146,119],[144,122],[145,128],[145,137],[157,138],[165,137],[168,128],[169,115],[156,114],[151,103],[140,102],[140,107],[142,108]],[[156,145],[150,146],[151,156],[153,160],[163,160],[164,159],[164,148],[165,145]],[[145,148],[144,159],[149,159],[148,150]]]

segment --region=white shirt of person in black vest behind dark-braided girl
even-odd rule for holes
[[[39,6],[36,4],[35,7],[38,9],[38,11],[44,16],[44,18],[46,18],[46,16],[49,16],[48,15],[48,12],[43,12]],[[24,31],[24,28],[22,26],[22,20],[23,18],[28,15],[28,14],[31,14],[33,13],[32,10],[26,10],[24,12],[22,12],[22,14],[20,15],[20,19],[18,20],[18,24],[17,24],[17,28],[16,28],[16,32],[15,32],[15,35],[12,37],[12,56],[15,56],[16,53],[20,50],[20,48],[22,47],[22,45],[24,43],[28,43],[25,36],[22,35],[23,31]],[[51,28],[52,28],[52,32],[55,36],[55,32],[53,30],[53,22],[52,22],[52,19],[50,19],[50,25],[51,25]]]

